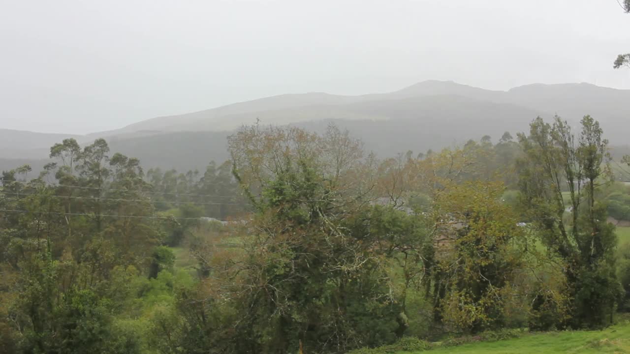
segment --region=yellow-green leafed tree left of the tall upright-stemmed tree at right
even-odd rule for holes
[[[503,328],[507,304],[517,297],[525,239],[503,185],[471,181],[449,185],[437,195],[438,246],[432,265],[435,319],[476,333]]]

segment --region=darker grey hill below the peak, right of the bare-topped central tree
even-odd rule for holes
[[[439,95],[402,100],[367,101],[348,105],[353,113],[383,117],[381,120],[335,120],[362,139],[368,150],[393,156],[411,150],[425,152],[469,139],[490,135],[498,140],[504,132],[523,131],[542,114],[509,103],[492,103],[464,96]],[[299,123],[309,130],[323,130],[328,122]]]

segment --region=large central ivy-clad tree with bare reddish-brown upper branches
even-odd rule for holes
[[[370,232],[365,218],[370,179],[360,142],[334,126],[323,136],[247,127],[229,149],[256,208],[243,257],[222,281],[232,290],[221,298],[234,299],[240,318],[236,351],[288,353],[302,341],[309,351],[343,353],[394,341],[404,324],[379,251],[383,232]]]

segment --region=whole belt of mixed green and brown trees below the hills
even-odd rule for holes
[[[38,178],[4,173],[0,345],[346,353],[602,328],[627,309],[630,254],[605,202],[627,190],[590,117],[384,160],[333,125],[254,126],[229,152],[203,174],[144,173],[104,140],[64,140]]]

